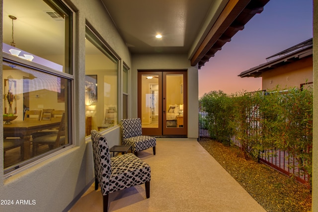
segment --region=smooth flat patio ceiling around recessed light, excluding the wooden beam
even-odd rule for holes
[[[210,8],[225,6],[222,0],[102,1],[132,53],[188,53]]]

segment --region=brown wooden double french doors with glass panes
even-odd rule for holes
[[[187,135],[186,85],[186,71],[138,72],[138,117],[143,135]]]

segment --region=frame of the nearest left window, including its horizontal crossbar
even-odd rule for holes
[[[41,64],[37,64],[37,63],[32,63],[30,61],[18,58],[16,56],[12,56],[6,52],[2,51],[2,64],[3,62],[6,63],[11,63],[11,64],[15,64],[21,67],[25,67],[27,69],[31,69],[31,70],[35,70],[35,71],[40,71],[40,72],[44,72],[47,74],[51,74],[57,77],[62,77],[64,79],[67,79],[68,81],[68,94],[67,94],[67,105],[66,105],[66,110],[67,110],[67,136],[68,136],[68,143],[63,145],[63,146],[59,146],[57,148],[51,149],[47,152],[41,153],[37,156],[31,157],[29,159],[26,160],[22,160],[21,162],[17,162],[12,166],[9,166],[7,168],[3,167],[3,174],[4,176],[10,176],[11,174],[15,173],[15,172],[19,172],[21,170],[24,170],[26,168],[28,168],[30,165],[33,165],[35,163],[37,163],[38,160],[44,160],[48,157],[51,157],[54,154],[59,153],[59,151],[61,149],[64,149],[65,147],[68,146],[73,146],[74,142],[73,142],[73,105],[74,105],[74,49],[75,49],[75,45],[74,45],[74,38],[75,38],[75,11],[72,10],[63,0],[43,0],[45,3],[47,3],[49,6],[51,6],[52,8],[55,8],[57,10],[59,10],[60,12],[65,13],[65,15],[68,16],[68,21],[65,21],[65,55],[64,55],[64,60],[65,60],[65,64],[64,64],[64,70],[63,71],[57,71],[54,70],[50,67],[46,67],[43,66]],[[63,11],[61,11],[63,10]],[[3,29],[2,29],[3,30]],[[3,80],[3,75],[2,75],[2,80]],[[3,100],[2,100],[3,103]],[[2,127],[2,131],[3,131],[3,127]],[[4,158],[3,158],[4,160]]]

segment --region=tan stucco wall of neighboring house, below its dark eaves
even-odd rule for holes
[[[262,90],[298,87],[305,82],[313,82],[313,57],[277,67],[262,73]]]

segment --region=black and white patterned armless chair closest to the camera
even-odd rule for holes
[[[95,190],[98,184],[103,195],[103,211],[108,211],[108,195],[145,183],[146,197],[150,197],[150,166],[132,153],[110,157],[105,137],[91,131],[95,168]]]

